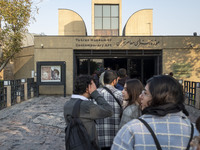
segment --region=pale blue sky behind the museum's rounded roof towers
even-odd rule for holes
[[[39,8],[30,33],[58,35],[58,9],[70,9],[84,20],[91,35],[92,0],[33,0]],[[38,3],[38,1],[41,1]],[[122,30],[129,17],[141,9],[153,9],[153,35],[200,35],[200,0],[122,0]]]

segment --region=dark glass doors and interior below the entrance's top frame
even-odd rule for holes
[[[116,71],[120,68],[125,68],[130,78],[137,78],[145,84],[147,79],[157,74],[156,57],[84,59],[83,61],[78,59],[77,62],[77,75],[92,75],[95,70],[99,70],[101,67]]]

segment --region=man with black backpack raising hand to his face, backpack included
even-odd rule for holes
[[[77,77],[75,81],[74,92],[70,100],[67,101],[64,105],[64,118],[67,125],[65,130],[66,149],[98,149],[98,137],[95,120],[110,117],[112,114],[112,107],[98,93],[92,77],[89,75],[80,75]],[[72,129],[70,131],[71,128],[77,127],[77,124],[78,127],[82,126],[80,127],[81,131],[79,131],[79,129]],[[81,134],[82,132],[85,134],[83,128],[86,129],[88,136]],[[77,142],[79,139],[77,140],[76,138],[82,138],[82,140],[80,139],[80,143]],[[94,148],[84,148],[85,141],[89,141],[89,144],[92,143],[93,146],[95,145]]]

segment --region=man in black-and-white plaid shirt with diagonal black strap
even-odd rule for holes
[[[104,86],[98,88],[98,92],[111,105],[113,115],[97,120],[98,140],[101,150],[109,150],[113,139],[119,130],[119,123],[122,114],[122,91],[114,86],[117,84],[118,76],[113,70],[106,70],[104,73]]]

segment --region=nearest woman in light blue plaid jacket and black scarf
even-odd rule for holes
[[[182,85],[173,77],[147,80],[140,94],[143,115],[119,130],[112,150],[189,150],[198,131],[187,117],[184,99]]]

